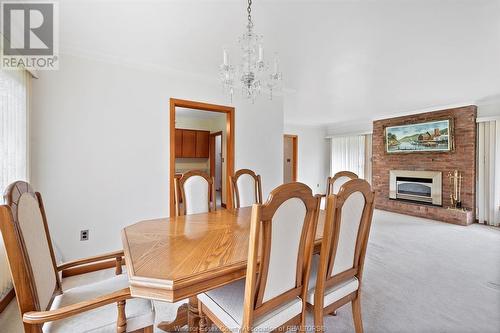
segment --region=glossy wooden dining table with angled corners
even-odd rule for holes
[[[141,221],[124,228],[131,295],[171,303],[189,299],[187,322],[189,329],[196,331],[196,295],[246,275],[251,210],[222,209]],[[316,251],[323,237],[324,215],[321,211]],[[172,326],[164,323],[160,328],[171,330]]]

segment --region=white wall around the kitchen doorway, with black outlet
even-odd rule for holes
[[[119,249],[123,227],[168,215],[170,97],[230,102],[216,78],[60,59],[33,82],[31,179],[69,260]],[[282,182],[283,102],[235,97],[235,167],[259,172],[267,196]]]

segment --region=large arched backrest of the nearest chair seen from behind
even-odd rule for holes
[[[306,296],[319,203],[307,185],[289,183],[274,189],[265,204],[253,205],[243,328]]]

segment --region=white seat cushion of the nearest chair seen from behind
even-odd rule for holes
[[[214,315],[219,318],[229,330],[236,332],[243,321],[243,298],[245,280],[239,280],[198,295],[198,299]],[[302,300],[293,301],[255,318],[253,330],[270,332],[302,312]]]

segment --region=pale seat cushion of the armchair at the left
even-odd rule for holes
[[[128,288],[125,274],[80,287],[73,287],[54,298],[51,310],[78,302],[94,299],[120,289]],[[94,310],[57,320],[43,325],[43,333],[68,332],[115,332],[118,318],[116,303]],[[135,331],[154,324],[155,312],[151,301],[139,298],[128,299],[125,304],[127,332]]]

